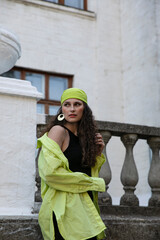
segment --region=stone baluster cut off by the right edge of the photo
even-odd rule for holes
[[[152,162],[148,174],[148,183],[152,189],[149,206],[160,207],[160,137],[151,137],[148,144],[152,149]]]

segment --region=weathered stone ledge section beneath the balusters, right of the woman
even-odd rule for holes
[[[160,208],[100,206],[107,240],[160,239]]]

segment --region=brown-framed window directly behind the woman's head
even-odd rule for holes
[[[2,76],[30,81],[44,97],[44,99],[38,101],[37,112],[49,115],[57,114],[57,110],[61,105],[61,95],[65,89],[72,87],[73,79],[73,76],[22,68],[13,68],[9,72],[2,74]]]

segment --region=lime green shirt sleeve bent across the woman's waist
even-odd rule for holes
[[[51,188],[59,191],[82,193],[87,191],[105,191],[102,178],[89,177],[85,173],[72,172],[67,166],[67,159],[57,144],[49,149],[41,144],[38,159],[39,175]]]

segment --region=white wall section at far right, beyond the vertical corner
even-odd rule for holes
[[[160,126],[159,1],[121,1],[124,119]]]

